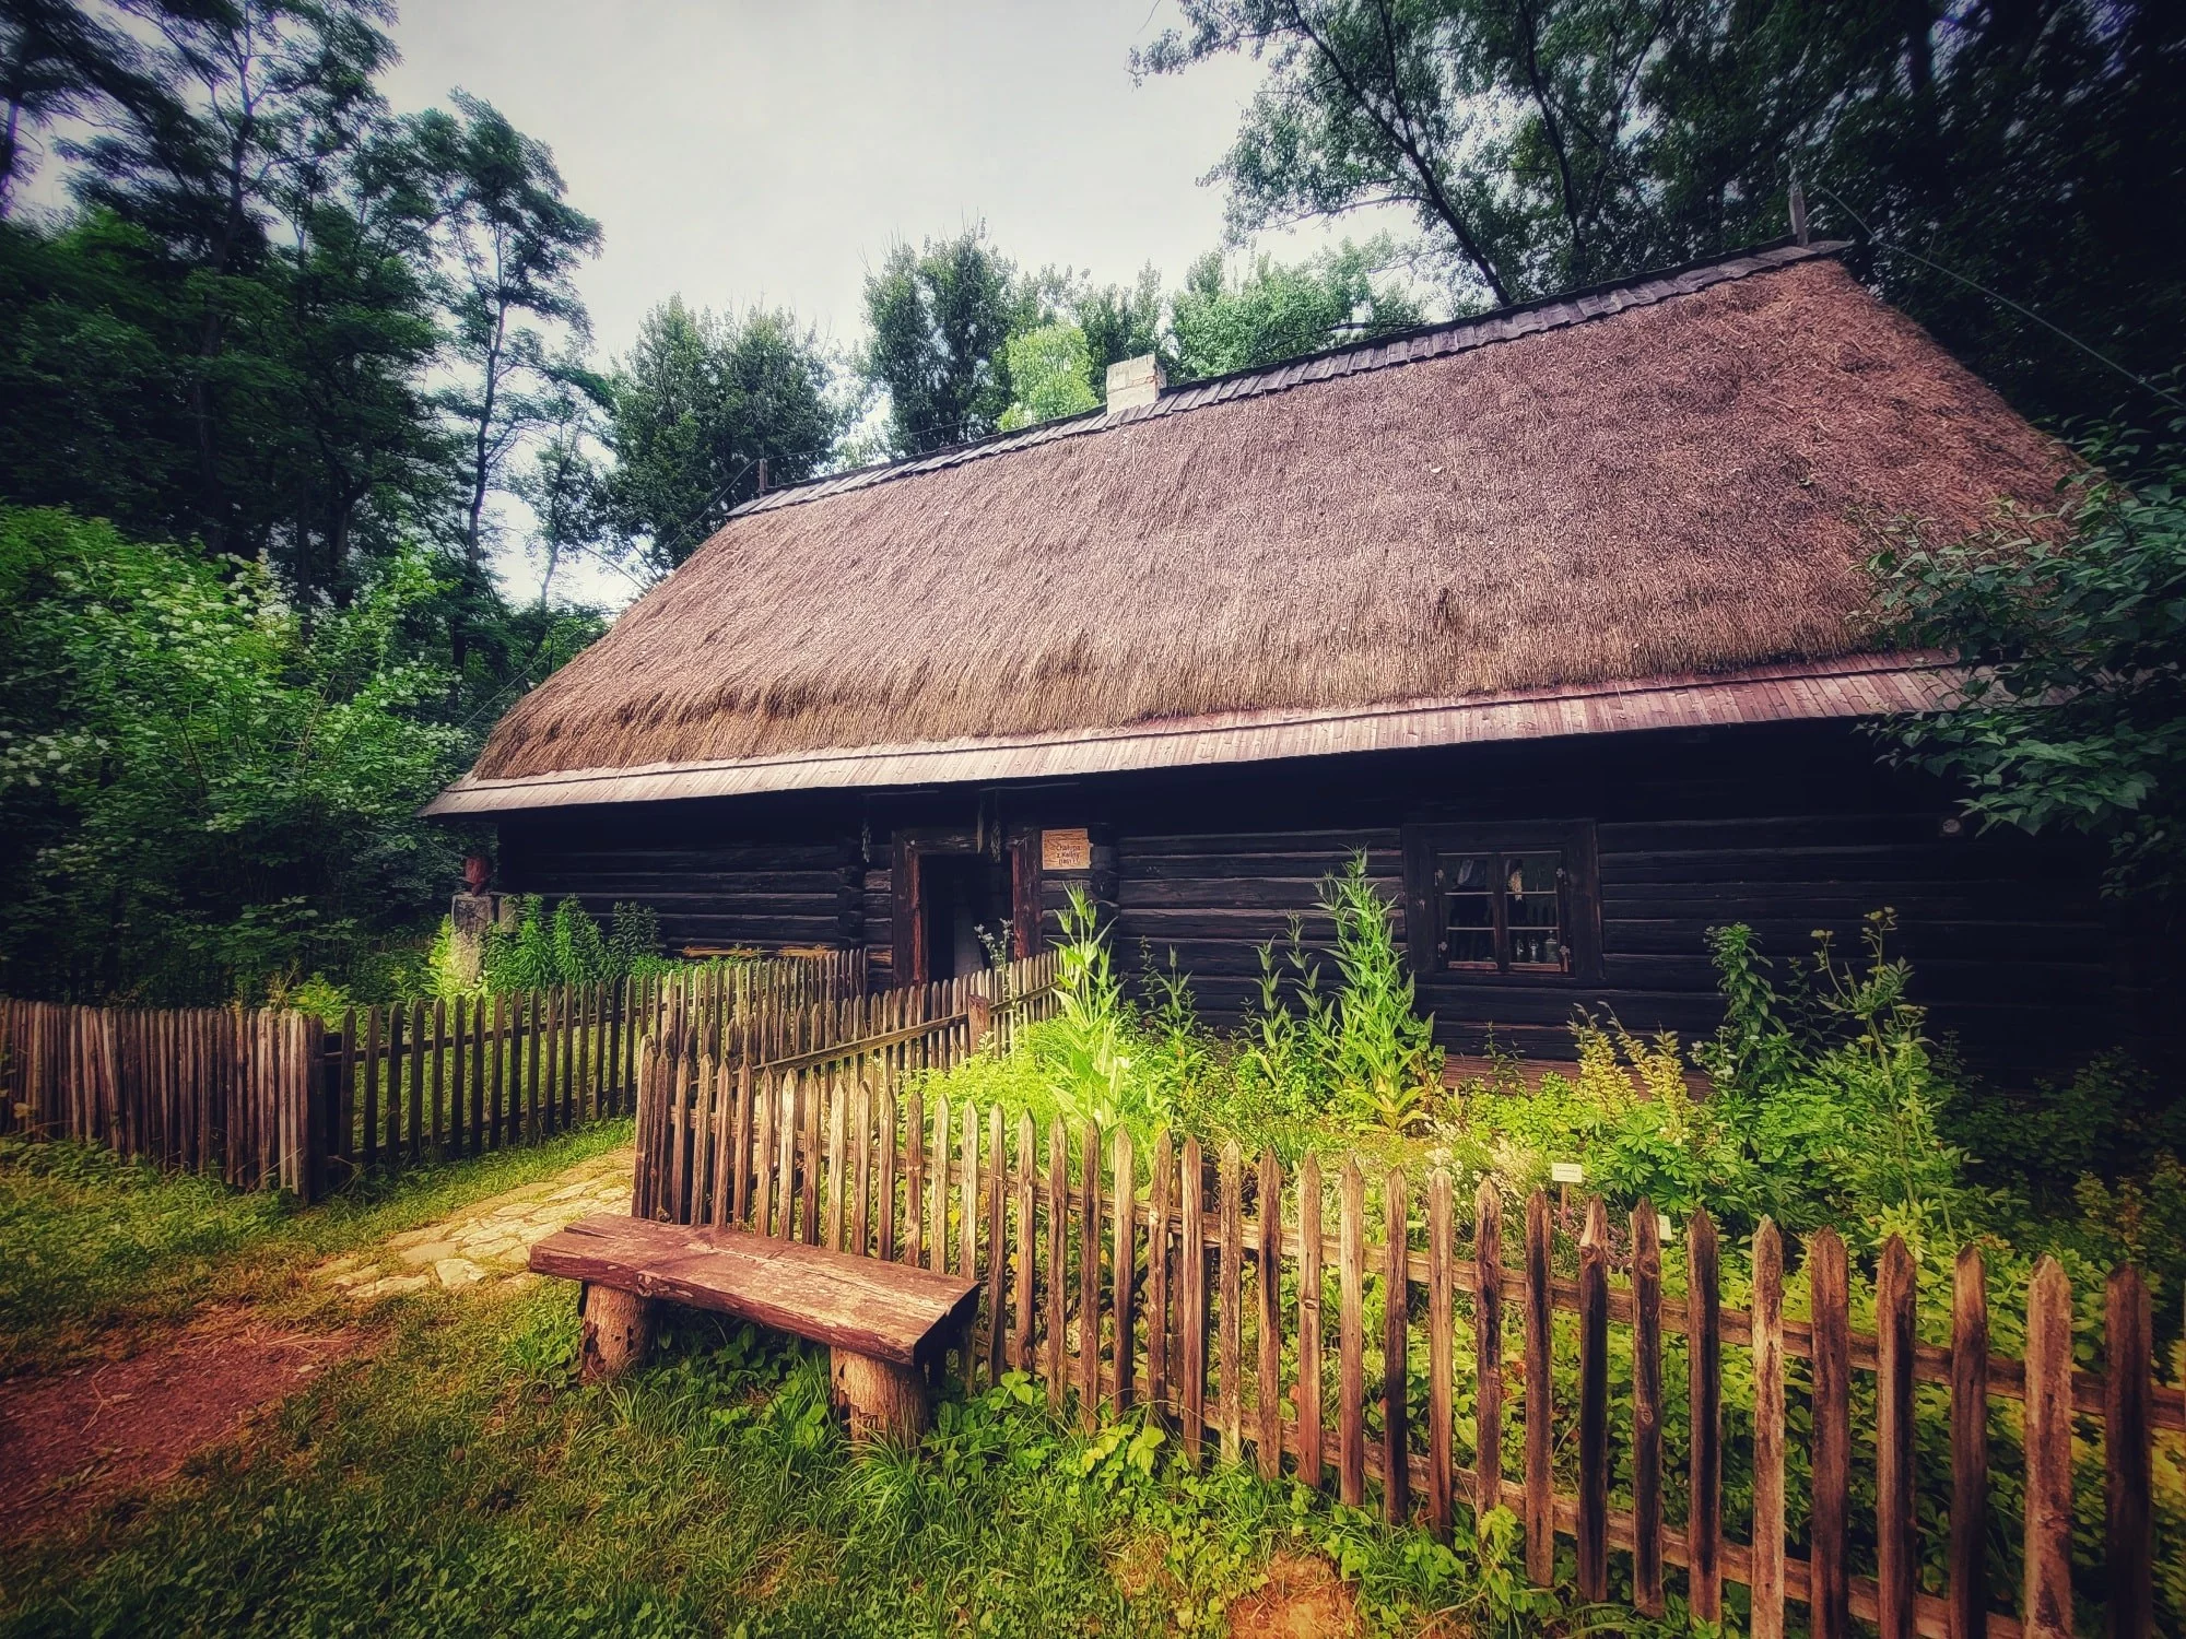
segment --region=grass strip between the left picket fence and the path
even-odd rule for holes
[[[328,1257],[627,1141],[630,1121],[606,1121],[304,1208],[96,1145],[0,1139],[0,1377],[127,1353],[210,1305],[304,1300],[302,1276]]]

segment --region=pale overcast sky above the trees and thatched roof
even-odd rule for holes
[[[606,352],[671,291],[794,306],[835,345],[894,238],[984,219],[1021,262],[1174,284],[1222,234],[1202,177],[1257,68],[1132,85],[1172,0],[409,0],[402,111],[463,90],[553,146],[606,227]],[[1283,247],[1296,249],[1296,247]]]

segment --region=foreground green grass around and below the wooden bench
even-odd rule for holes
[[[1445,1549],[1132,1427],[1089,1442],[1023,1379],[855,1453],[824,1355],[748,1329],[684,1318],[577,1388],[566,1287],[398,1313],[254,1447],[0,1547],[0,1635],[1222,1632],[1277,1549],[1336,1558],[1382,1630],[1563,1626],[1508,1532]]]

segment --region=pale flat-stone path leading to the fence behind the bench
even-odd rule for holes
[[[324,1263],[313,1272],[359,1302],[442,1285],[529,1283],[531,1243],[592,1213],[627,1213],[632,1149],[610,1149],[538,1184],[472,1202],[459,1215],[396,1235],[369,1252]]]

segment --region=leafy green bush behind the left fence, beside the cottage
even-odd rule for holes
[[[435,594],[407,553],[306,625],[260,566],[0,509],[0,983],[256,999],[413,935],[472,745],[407,651]]]

